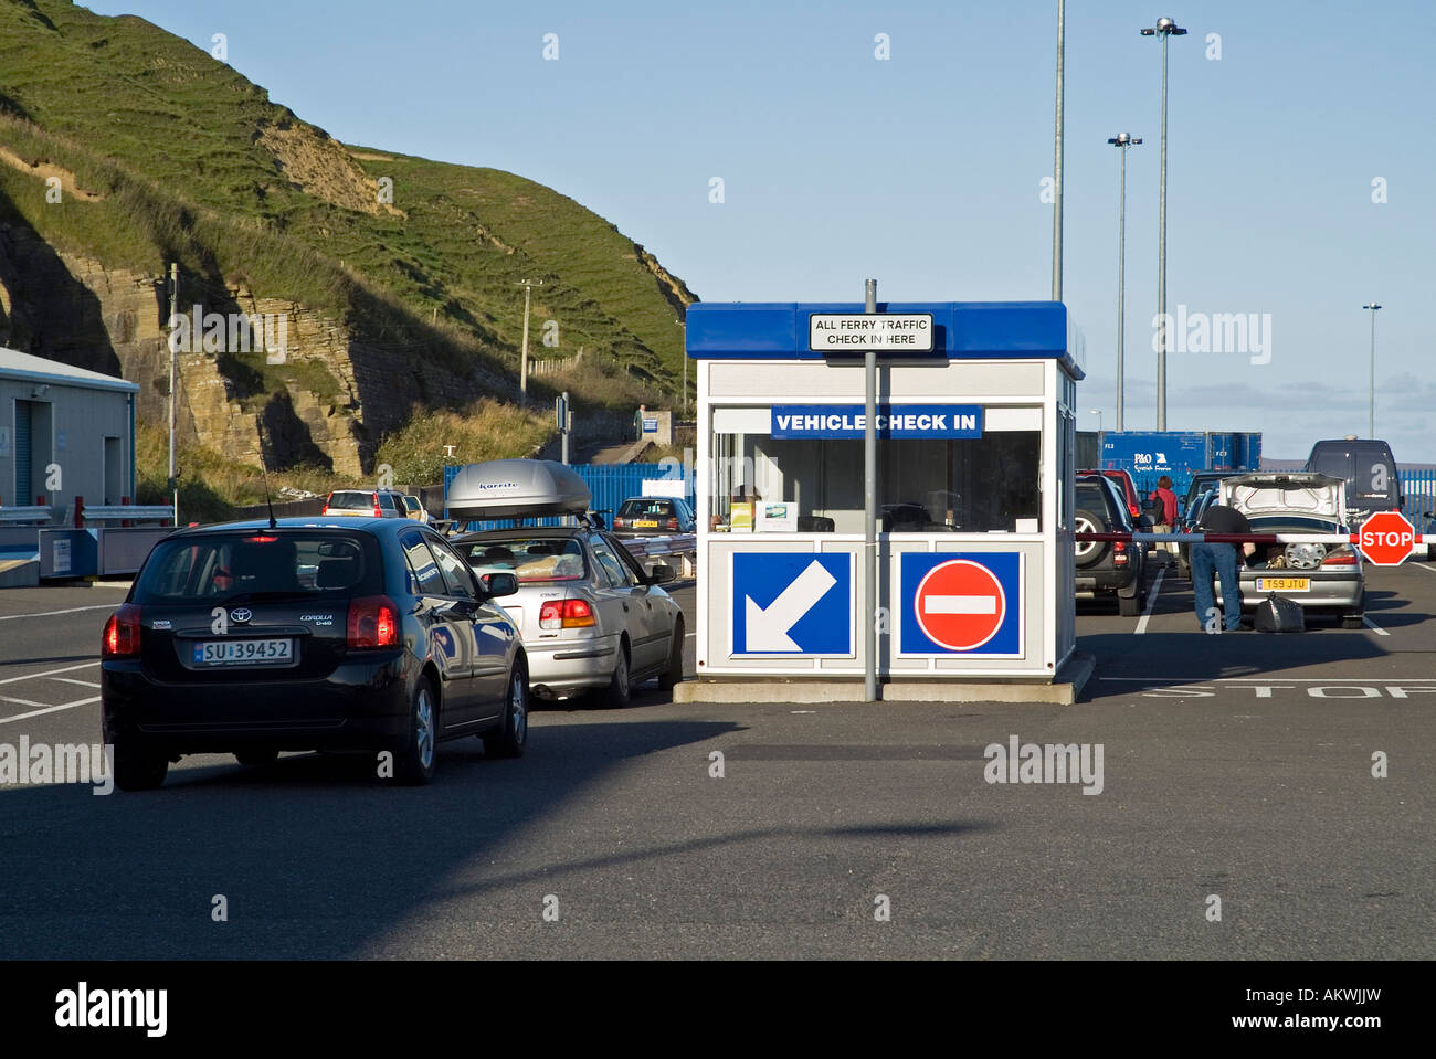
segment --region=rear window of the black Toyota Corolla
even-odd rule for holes
[[[379,542],[366,534],[215,532],[157,544],[135,583],[134,603],[372,596],[382,581]]]

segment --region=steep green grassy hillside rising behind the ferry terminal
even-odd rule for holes
[[[530,356],[582,347],[586,363],[537,383],[538,397],[559,386],[580,409],[676,403],[673,320],[694,296],[573,199],[497,169],[342,145],[138,17],[0,0],[0,221],[108,268],[159,276],[178,260],[188,293],[243,286],[330,314],[406,366],[472,379],[461,399],[434,402],[451,406],[511,399],[516,284],[543,280]],[[46,201],[46,174],[62,205]],[[540,344],[547,320],[556,349]],[[244,372],[240,390],[261,400],[329,386],[263,357]]]

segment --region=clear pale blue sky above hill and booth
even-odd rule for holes
[[[1051,296],[1055,0],[88,6],[205,49],[225,33],[236,69],[346,142],[541,181],[707,301],[857,301],[869,276],[885,300]],[[1169,353],[1167,428],[1262,430],[1282,458],[1364,435],[1374,297],[1376,432],[1436,462],[1425,1],[1067,4],[1078,425],[1099,408],[1114,425],[1119,132],[1146,141],[1127,169],[1126,425],[1156,425],[1160,44],[1139,30],[1163,14],[1189,30],[1170,43],[1169,311],[1271,320],[1265,363]]]

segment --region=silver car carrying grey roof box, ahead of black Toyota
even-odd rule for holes
[[[517,574],[503,600],[528,653],[533,693],[626,706],[636,684],[684,679],[684,613],[612,535],[587,527],[490,530],[451,540],[477,574]]]

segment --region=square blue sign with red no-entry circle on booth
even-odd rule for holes
[[[905,552],[899,654],[1022,657],[1018,552]]]

